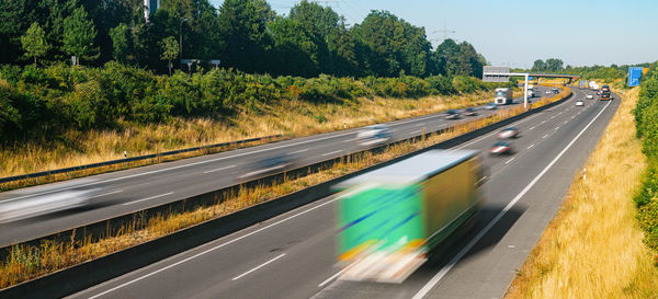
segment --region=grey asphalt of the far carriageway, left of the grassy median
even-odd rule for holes
[[[542,96],[547,88],[540,87]],[[537,97],[533,99],[537,100]],[[518,104],[520,99],[515,100]],[[478,116],[445,119],[444,113],[387,123],[393,139],[399,140],[433,131]],[[93,175],[59,183],[0,193],[0,207],[8,203],[44,200],[64,192],[93,191],[93,205],[0,223],[0,246],[33,240],[67,229],[93,223],[120,215],[184,199],[239,183],[240,176],[256,176],[258,161],[293,157],[297,164],[309,164],[341,157],[360,149],[355,140],[361,128],[296,138],[258,147],[184,159],[126,171]]]

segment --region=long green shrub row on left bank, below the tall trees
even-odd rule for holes
[[[55,65],[0,67],[0,141],[55,136],[67,129],[168,122],[172,116],[220,118],[259,112],[280,100],[355,105],[358,97],[421,97],[490,90],[495,84],[470,77],[424,79],[366,77],[317,78],[249,74],[213,69],[171,77],[109,62],[102,68]]]

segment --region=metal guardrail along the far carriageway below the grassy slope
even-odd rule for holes
[[[37,179],[37,177],[42,177],[42,176],[48,176],[48,175],[60,174],[60,173],[68,173],[68,172],[73,172],[73,171],[81,171],[81,170],[127,163],[127,162],[133,162],[133,161],[140,161],[140,160],[167,157],[167,156],[190,152],[190,151],[220,148],[220,147],[227,147],[227,146],[232,146],[232,145],[249,143],[249,142],[265,140],[265,139],[280,138],[283,135],[256,137],[256,138],[242,139],[242,140],[237,140],[237,141],[230,141],[230,142],[222,142],[222,143],[193,147],[193,148],[186,148],[186,149],[180,149],[180,150],[170,150],[170,151],[164,151],[164,152],[159,152],[159,153],[151,153],[151,154],[137,156],[137,157],[131,157],[131,158],[125,158],[125,159],[110,160],[110,161],[105,161],[105,162],[98,162],[98,163],[91,163],[91,164],[84,164],[84,165],[78,165],[78,166],[71,166],[71,168],[64,168],[64,169],[34,172],[34,173],[27,173],[27,174],[14,175],[14,176],[0,177],[0,184],[15,182],[15,181],[22,181],[22,180],[29,180],[29,179]]]

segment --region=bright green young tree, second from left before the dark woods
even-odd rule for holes
[[[83,8],[77,8],[64,20],[64,50],[78,59],[92,60],[99,57],[99,48],[93,46],[95,35],[93,22],[87,19]]]

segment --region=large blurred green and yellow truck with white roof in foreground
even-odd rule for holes
[[[402,283],[475,222],[485,179],[477,151],[431,150],[333,186],[338,279]]]

